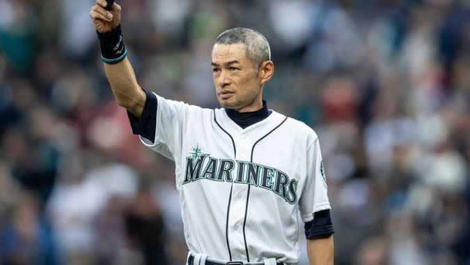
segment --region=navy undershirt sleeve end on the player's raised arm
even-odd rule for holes
[[[146,89],[143,89],[143,91],[146,92],[147,98],[145,105],[143,105],[140,119],[129,111],[127,111],[127,116],[129,117],[132,133],[134,135],[141,135],[141,137],[144,137],[153,143],[155,141],[158,101],[154,93],[151,93]]]

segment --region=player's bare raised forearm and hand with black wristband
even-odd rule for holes
[[[120,11],[117,3],[106,10],[107,1],[96,0],[90,17],[100,39],[104,70],[116,102],[136,117],[146,103],[146,93],[137,83],[134,69],[127,59],[127,50],[120,30]]]

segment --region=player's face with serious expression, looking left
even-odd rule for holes
[[[259,108],[263,83],[245,55],[244,44],[214,45],[211,65],[217,100],[222,107],[241,112]]]

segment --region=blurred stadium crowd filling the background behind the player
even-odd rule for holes
[[[335,264],[470,264],[470,1],[118,3],[139,84],[203,107],[217,35],[267,37],[268,107],[320,137]],[[0,264],[184,264],[173,162],[114,103],[91,6],[0,0]]]

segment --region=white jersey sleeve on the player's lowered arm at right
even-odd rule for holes
[[[299,200],[303,222],[312,221],[315,212],[331,209],[318,137],[315,137],[314,142],[307,149],[307,172],[306,183]]]

